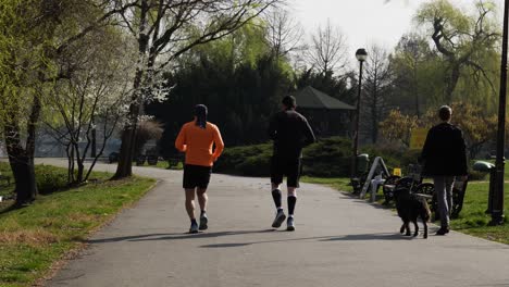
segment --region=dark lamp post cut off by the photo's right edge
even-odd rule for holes
[[[504,223],[504,165],[506,141],[506,91],[507,91],[507,38],[509,20],[509,0],[504,4],[504,34],[500,65],[500,93],[498,101],[497,160],[495,162],[495,190],[493,192],[493,209],[491,225]]]

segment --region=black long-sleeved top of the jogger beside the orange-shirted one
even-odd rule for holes
[[[274,140],[274,155],[300,158],[302,148],[315,141],[308,120],[294,110],[274,114],[269,124],[269,137]]]

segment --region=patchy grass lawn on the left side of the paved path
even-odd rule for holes
[[[140,199],[156,183],[140,177],[109,182],[109,177],[110,174],[95,173],[95,183],[39,196],[24,209],[0,205],[0,286],[33,285],[50,272],[52,264],[79,248],[91,232]]]

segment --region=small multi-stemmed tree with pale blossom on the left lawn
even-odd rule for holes
[[[117,30],[102,29],[88,34],[78,47],[62,58],[61,65],[74,65],[76,71],[60,80],[47,97],[50,108],[45,123],[53,137],[66,148],[69,183],[86,182],[108,140],[125,116],[128,104],[129,42],[122,42]],[[70,63],[71,62],[71,63]],[[101,142],[98,152],[91,152],[88,170],[85,160],[95,149],[96,137]]]

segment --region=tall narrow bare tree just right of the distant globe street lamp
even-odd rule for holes
[[[386,98],[392,88],[393,74],[388,53],[381,46],[373,45],[369,49],[365,63],[362,107],[364,107],[364,130],[370,132],[373,144],[378,139],[378,124],[387,112]]]

